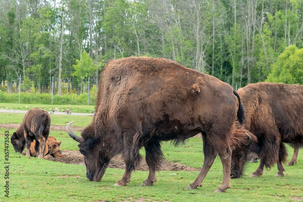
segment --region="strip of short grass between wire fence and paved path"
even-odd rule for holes
[[[29,110],[32,108],[42,108],[46,111],[50,111],[50,109],[55,110],[55,108],[58,108],[60,112],[64,111],[65,109],[71,109],[74,113],[92,113],[92,111],[95,111],[94,105],[0,103],[0,109]]]

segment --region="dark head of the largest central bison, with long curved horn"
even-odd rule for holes
[[[73,122],[74,121],[66,125],[66,130],[70,137],[80,143],[78,147],[79,151],[84,156],[83,159],[86,166],[86,177],[90,181],[99,182],[108,167],[111,157],[108,154],[107,149],[104,147],[104,144],[99,139],[94,138],[94,131],[92,128],[86,127],[82,131],[81,134],[86,134],[85,136],[88,137],[84,139],[75,135],[70,129],[70,125]]]

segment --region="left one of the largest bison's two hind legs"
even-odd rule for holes
[[[195,179],[195,181],[189,184],[189,186],[186,187],[186,189],[196,189],[198,186],[202,187],[202,182],[217,156],[217,152],[215,151],[214,147],[210,146],[206,141],[204,141],[204,138],[203,138],[203,153],[204,153],[203,167],[198,177]]]

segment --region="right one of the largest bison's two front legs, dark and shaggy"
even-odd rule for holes
[[[145,146],[145,160],[149,168],[146,180],[140,186],[153,186],[156,179],[156,172],[160,171],[161,160],[164,158],[160,142],[148,142]]]

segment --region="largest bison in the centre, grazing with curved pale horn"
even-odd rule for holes
[[[231,145],[250,142],[244,131],[238,131],[242,142],[233,138],[235,118],[241,122],[243,114],[238,93],[219,79],[163,58],[130,57],[109,62],[102,72],[95,116],[82,137],[71,131],[73,122],[66,129],[80,143],[91,181],[100,181],[109,161],[123,154],[125,173],[115,186],[130,182],[143,146],[149,175],[141,185],[152,186],[163,159],[161,141],[178,144],[201,132],[204,164],[187,189],[202,186],[219,154],[223,182],[216,192],[225,192],[231,187]]]

